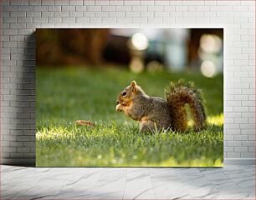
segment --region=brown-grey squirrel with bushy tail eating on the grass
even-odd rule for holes
[[[132,81],[120,92],[115,110],[124,112],[133,120],[140,122],[140,132],[154,133],[161,130],[184,132],[187,130],[188,103],[194,121],[194,130],[200,131],[206,127],[207,115],[202,99],[202,93],[193,82],[170,82],[166,89],[166,100],[161,97],[150,97]]]

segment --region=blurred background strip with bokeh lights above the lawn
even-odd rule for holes
[[[37,29],[38,67],[223,73],[223,28]]]

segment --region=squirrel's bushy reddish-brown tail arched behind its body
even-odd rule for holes
[[[202,100],[202,93],[194,87],[193,82],[170,82],[166,90],[166,101],[171,106],[172,128],[184,131],[187,129],[187,112],[185,104],[189,104],[194,120],[194,129],[202,130],[206,126],[206,112]]]

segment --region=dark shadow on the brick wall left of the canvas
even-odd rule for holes
[[[25,37],[23,60],[18,69],[17,143],[23,141],[23,155],[19,166],[35,167],[35,102],[36,102],[36,37],[35,32]],[[23,111],[23,112],[19,112]]]

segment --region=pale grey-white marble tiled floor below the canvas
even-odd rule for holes
[[[3,199],[255,199],[255,166],[23,168],[1,166]]]

